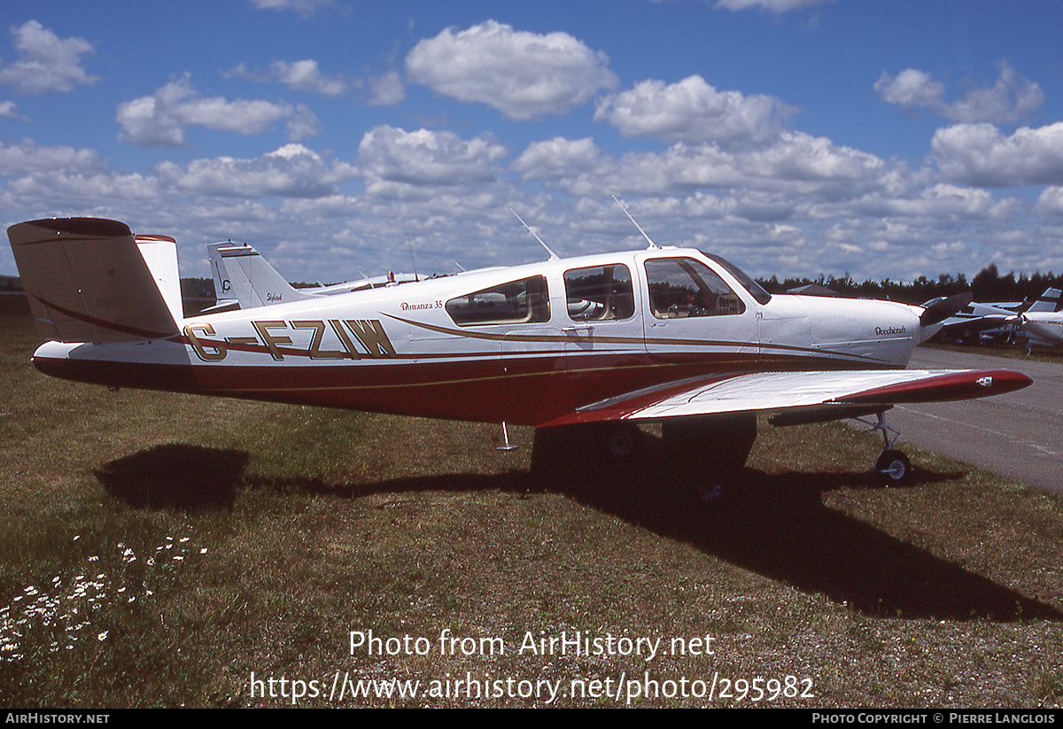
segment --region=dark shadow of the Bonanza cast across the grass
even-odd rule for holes
[[[566,494],[668,539],[787,582],[823,593],[867,615],[904,618],[1063,620],[1039,599],[824,506],[841,488],[884,488],[871,473],[767,474],[743,468],[707,474],[691,459],[643,454],[634,463],[557,468],[564,454],[533,456],[532,471],[396,477],[364,485],[248,477],[248,454],[192,445],[156,446],[111,461],[97,478],[135,508],[231,508],[240,488],[358,497],[381,493],[502,491],[528,497]],[[916,469],[913,481],[958,473]],[[691,488],[691,484],[710,484]],[[721,488],[718,495],[715,487]],[[890,487],[898,488],[898,487]]]

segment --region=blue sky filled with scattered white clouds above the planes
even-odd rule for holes
[[[5,0],[0,217],[333,283],[660,244],[754,275],[1063,271],[1063,5]],[[14,274],[7,247],[0,273]]]

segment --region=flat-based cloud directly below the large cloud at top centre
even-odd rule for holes
[[[468,185],[491,182],[506,148],[489,137],[461,139],[451,132],[376,126],[361,138],[358,160],[367,187]],[[377,187],[377,189],[381,189]]]

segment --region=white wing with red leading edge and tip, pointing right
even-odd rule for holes
[[[748,372],[646,388],[577,408],[543,426],[615,420],[660,421],[776,412],[779,424],[838,420],[899,403],[968,400],[1018,390],[1032,379],[1011,370]]]

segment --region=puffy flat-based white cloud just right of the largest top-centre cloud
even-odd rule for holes
[[[699,75],[665,85],[643,81],[597,104],[595,121],[606,121],[626,137],[664,141],[761,142],[781,130],[796,109],[770,96],[718,91]]]

